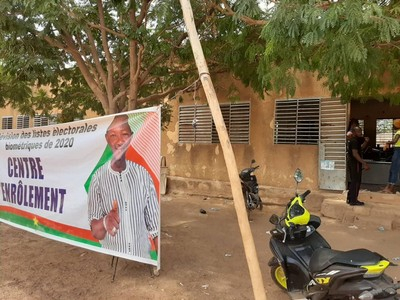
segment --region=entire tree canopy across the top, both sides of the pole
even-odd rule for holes
[[[308,71],[344,101],[392,103],[400,103],[399,6],[390,0],[193,2],[212,73],[231,72],[261,96],[271,90],[291,96],[298,73]],[[67,121],[88,108],[109,114],[163,103],[168,121],[163,99],[189,91],[198,78],[178,0],[4,0],[0,26],[0,100],[22,111],[62,108]],[[24,84],[52,93],[8,90]]]

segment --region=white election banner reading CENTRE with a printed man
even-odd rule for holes
[[[160,268],[160,107],[0,131],[0,221]]]

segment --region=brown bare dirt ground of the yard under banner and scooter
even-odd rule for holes
[[[254,299],[232,200],[188,195],[162,197],[161,270],[45,239],[0,223],[0,299]],[[204,209],[206,214],[201,214]],[[288,299],[274,286],[265,206],[250,223],[268,300]],[[365,247],[400,263],[400,232],[355,228],[323,219],[332,248]],[[400,280],[400,267],[388,274]]]

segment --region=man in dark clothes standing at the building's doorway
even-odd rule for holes
[[[351,131],[353,133],[352,138],[347,142],[347,168],[350,176],[347,203],[350,205],[364,205],[364,202],[358,200],[358,192],[360,191],[362,170],[368,171],[369,166],[362,159],[361,147],[364,143],[364,138],[361,128],[356,126]]]

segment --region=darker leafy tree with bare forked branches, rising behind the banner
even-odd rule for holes
[[[226,16],[212,2],[192,1],[210,71],[232,71],[262,94],[256,74],[264,51],[261,26],[247,26],[241,18],[263,19],[266,13],[256,0],[235,0],[227,4],[236,13]],[[103,114],[163,104],[165,96],[198,78],[178,0],[103,0],[101,4],[104,24],[93,0],[0,3],[4,72],[13,81],[28,87],[49,86],[52,92],[36,98],[8,93],[10,103],[27,111],[60,109],[60,120],[71,120],[88,108]],[[167,121],[169,110],[163,111]]]

